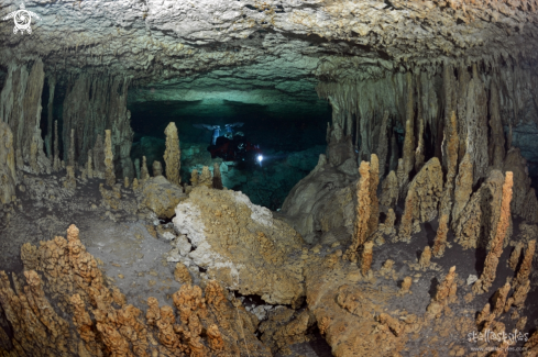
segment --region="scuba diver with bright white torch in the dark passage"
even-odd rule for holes
[[[233,133],[233,127],[241,127],[243,123],[226,124],[223,135],[220,125],[193,124],[193,126],[212,131],[211,145],[207,148],[211,153],[211,158],[220,157],[224,161],[234,161],[239,166],[251,163],[262,165],[263,156],[260,146],[249,143],[243,132]]]

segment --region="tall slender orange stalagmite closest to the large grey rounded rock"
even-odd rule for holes
[[[343,258],[353,263],[358,259],[358,249],[366,242],[370,221],[370,163],[362,161],[359,167],[361,178],[356,182],[356,211],[353,241]]]

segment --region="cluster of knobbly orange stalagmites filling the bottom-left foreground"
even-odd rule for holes
[[[149,298],[144,314],[105,283],[74,225],[67,239],[55,237],[39,248],[25,244],[21,257],[26,286],[12,275],[13,289],[0,272],[0,305],[13,336],[0,327],[2,356],[271,356],[254,336],[255,315],[230,301],[215,280],[205,292],[184,283],[173,306]],[[57,311],[72,315],[75,328]]]

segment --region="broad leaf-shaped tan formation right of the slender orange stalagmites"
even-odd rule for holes
[[[442,169],[439,159],[431,158],[409,183],[398,236],[409,242],[415,221],[429,222],[437,216],[442,191]]]

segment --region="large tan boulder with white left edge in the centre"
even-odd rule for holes
[[[208,277],[268,303],[300,304],[301,237],[240,192],[198,186],[176,208],[174,225],[194,246],[189,258]]]

